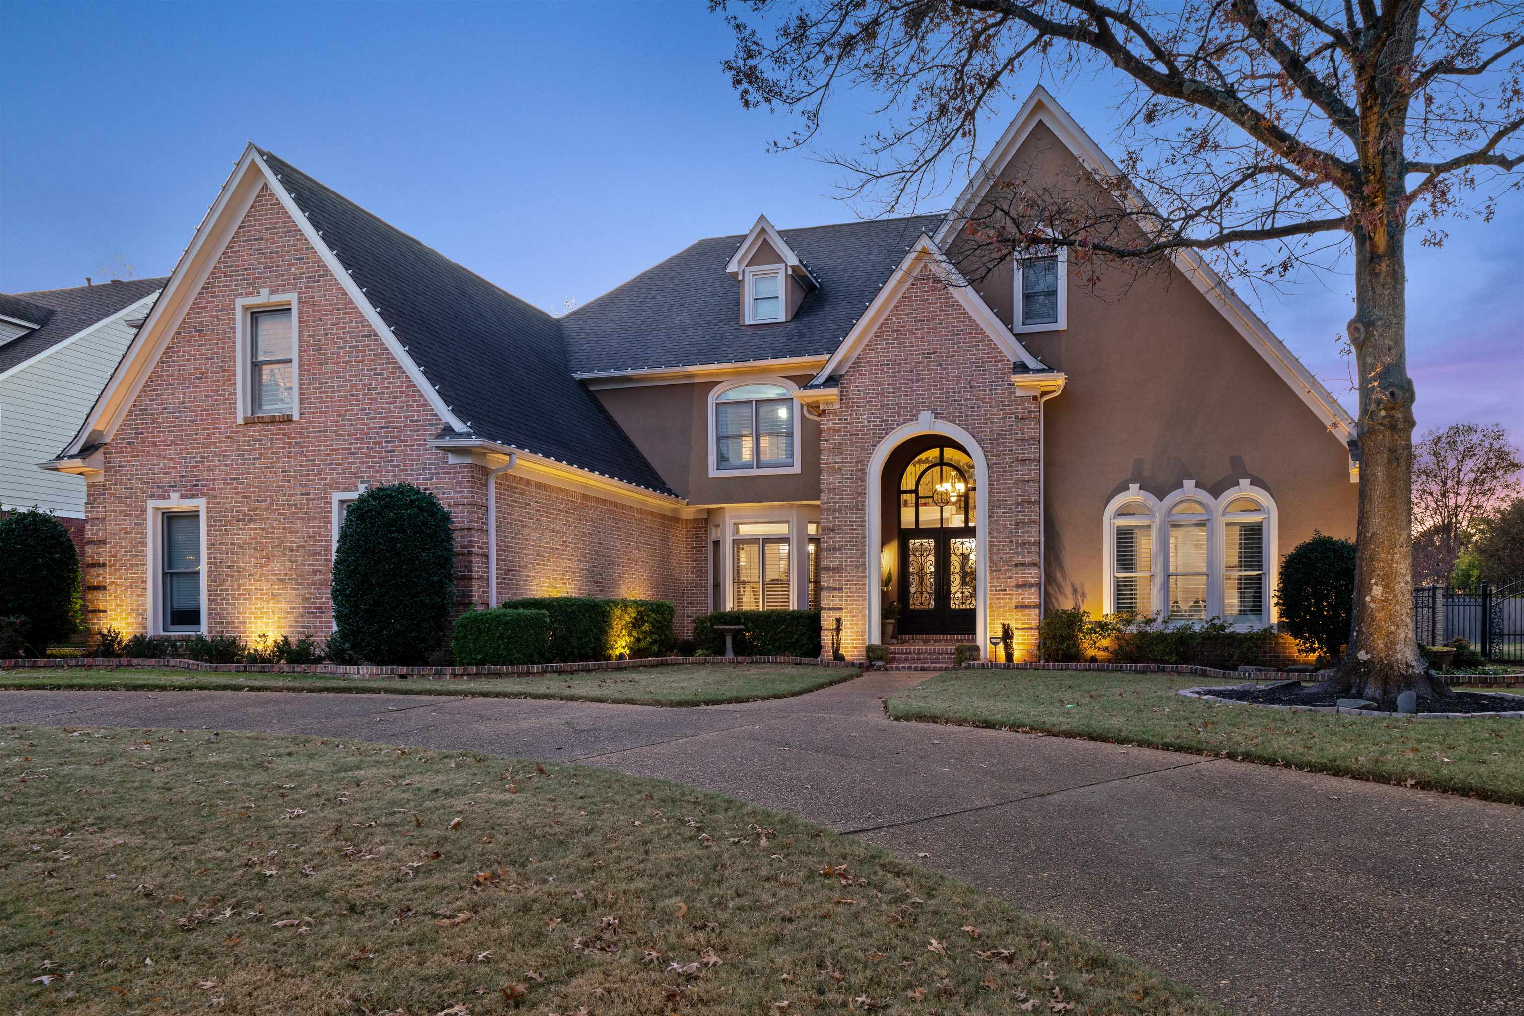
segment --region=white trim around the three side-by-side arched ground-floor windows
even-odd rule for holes
[[[1262,513],[1236,513],[1233,516],[1227,515],[1227,506],[1241,497],[1248,497],[1259,501]],[[1116,532],[1117,532],[1117,509],[1120,509],[1128,501],[1140,501],[1149,507],[1154,513],[1154,559],[1152,559],[1152,600],[1154,600],[1154,618],[1160,623],[1172,623],[1169,620],[1169,512],[1180,501],[1192,500],[1198,501],[1207,509],[1207,618],[1222,617],[1224,609],[1227,609],[1225,583],[1227,573],[1222,562],[1227,561],[1227,524],[1233,519],[1253,521],[1260,518],[1265,522],[1263,532],[1263,602],[1265,602],[1265,618],[1256,625],[1253,621],[1237,621],[1233,623],[1234,628],[1250,629],[1260,628],[1263,625],[1277,625],[1280,617],[1276,611],[1276,585],[1280,580],[1280,532],[1279,532],[1279,516],[1276,509],[1276,500],[1269,497],[1269,492],[1253,486],[1248,480],[1239,480],[1236,484],[1222,492],[1221,497],[1212,497],[1205,490],[1196,487],[1195,480],[1186,480],[1180,489],[1172,490],[1164,500],[1155,498],[1148,490],[1143,490],[1140,484],[1131,483],[1128,489],[1111,498],[1106,504],[1106,512],[1102,516],[1103,533],[1102,545],[1105,548],[1103,559],[1103,612],[1114,614],[1117,609],[1116,597]],[[1126,524],[1126,522],[1122,522]],[[1177,620],[1173,623],[1190,623],[1184,620]]]

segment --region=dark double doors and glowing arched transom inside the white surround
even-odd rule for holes
[[[884,469],[892,504],[888,589],[905,635],[974,635],[978,608],[978,477],[957,442],[905,442]]]

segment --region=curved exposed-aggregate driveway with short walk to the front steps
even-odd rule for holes
[[[261,692],[0,692],[0,722],[262,730],[664,777],[863,836],[1245,1013],[1524,1008],[1524,809],[925,724],[881,673],[651,708]]]

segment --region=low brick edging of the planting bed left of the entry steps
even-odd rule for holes
[[[158,667],[162,670],[201,670],[209,673],[322,673],[340,678],[501,678],[532,673],[581,673],[587,670],[628,670],[632,667],[668,667],[674,664],[742,664],[786,663],[800,667],[860,667],[856,663],[818,660],[815,657],[652,657],[649,660],[594,660],[590,663],[539,663],[518,667],[346,667],[335,663],[201,663],[198,660],[96,660],[82,657],[47,657],[41,660],[0,660],[0,670],[120,670],[123,667]]]

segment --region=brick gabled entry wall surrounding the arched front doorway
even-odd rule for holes
[[[841,617],[841,650],[860,660],[867,641],[866,586],[869,460],[895,430],[920,413],[956,423],[980,445],[989,468],[978,492],[988,535],[988,646],[1009,623],[1017,658],[1036,647],[1039,600],[1039,434],[1035,396],[1010,382],[1010,361],[942,282],[913,279],[841,376],[840,401],[821,413],[821,606],[829,650]]]

